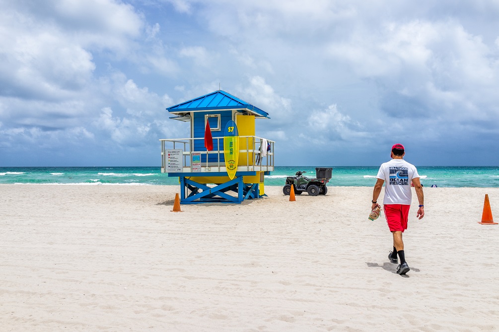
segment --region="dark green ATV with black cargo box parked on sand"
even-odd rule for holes
[[[305,171],[298,171],[295,176],[286,178],[286,184],[282,188],[282,192],[284,195],[289,195],[291,186],[293,186],[295,195],[301,195],[304,191],[310,196],[326,195],[326,184],[331,179],[332,170],[332,167],[317,167],[315,168],[316,178],[313,179],[303,176],[303,173],[306,173]]]

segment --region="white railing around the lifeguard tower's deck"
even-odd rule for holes
[[[160,139],[161,142],[161,172],[168,173],[167,169],[167,150],[182,149],[182,172],[193,172],[192,168],[192,152],[205,155],[205,162],[201,163],[202,172],[227,172],[225,162],[221,161],[221,155],[224,155],[224,137],[213,137],[213,146],[218,147],[218,150],[213,151],[193,151],[194,141],[203,140],[200,138],[168,138]],[[215,144],[217,142],[217,144]],[[261,156],[261,149],[266,149],[262,146],[263,138],[257,136],[239,136],[239,160],[238,172],[242,171],[273,171],[274,170],[274,141],[268,140],[270,143],[270,151],[267,151],[266,156]],[[204,143],[203,143],[204,146]],[[222,148],[222,150],[220,149]],[[209,155],[217,155],[216,162],[209,162]],[[213,158],[212,158],[213,159]],[[178,173],[178,172],[175,172]]]

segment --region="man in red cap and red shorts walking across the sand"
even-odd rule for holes
[[[403,159],[404,155],[404,145],[395,144],[392,146],[390,154],[392,160],[381,164],[376,176],[378,180],[374,185],[371,206],[371,210],[379,206],[377,200],[383,183],[386,181],[383,208],[385,210],[386,222],[393,235],[393,251],[390,251],[388,254],[388,259],[392,263],[397,264],[398,254],[400,258],[400,265],[397,267],[398,274],[406,274],[410,270],[405,260],[402,233],[407,229],[409,208],[412,202],[411,183],[414,185],[419,201],[419,209],[416,217],[421,219],[425,216],[423,186],[419,181],[418,170],[414,165]]]

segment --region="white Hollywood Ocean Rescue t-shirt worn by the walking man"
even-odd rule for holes
[[[404,159],[392,159],[381,164],[378,179],[385,181],[383,204],[411,205],[411,181],[419,178],[416,167]]]

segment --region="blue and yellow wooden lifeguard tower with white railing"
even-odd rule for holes
[[[265,194],[263,176],[274,170],[275,142],[255,136],[255,119],[269,118],[267,112],[221,90],[167,111],[175,115],[170,117],[174,120],[191,122],[191,137],[160,139],[161,172],[179,177],[181,204],[242,203]],[[211,151],[205,147],[207,124],[213,138]],[[227,138],[234,124],[239,135]],[[229,139],[239,143],[235,151],[233,143],[227,144]],[[228,146],[236,154],[236,165],[226,163]]]

